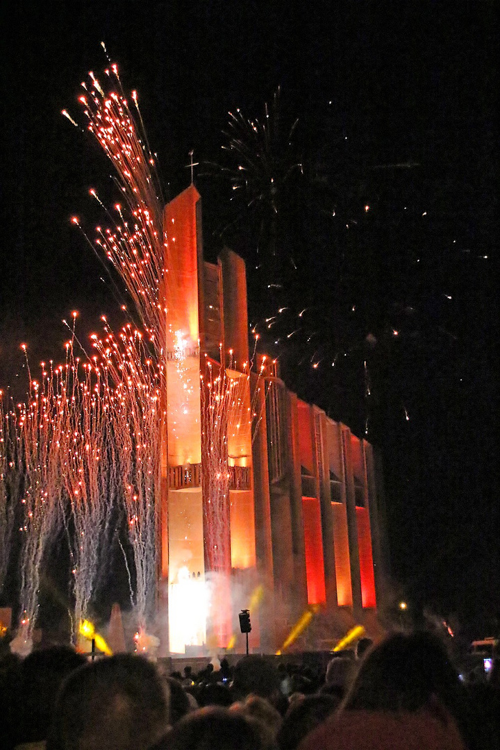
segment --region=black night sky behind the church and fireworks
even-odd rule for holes
[[[31,365],[62,359],[70,311],[87,332],[126,299],[70,224],[78,215],[92,237],[103,221],[88,189],[112,205],[109,163],[61,116],[83,122],[79,83],[106,68],[105,41],[139,92],[165,199],[189,184],[194,150],[205,257],[226,243],[247,261],[259,347],[301,398],[379,446],[395,595],[491,634],[493,2],[19,1],[1,13],[0,385],[22,390],[21,342]],[[233,190],[238,154],[221,146],[238,108],[270,138],[241,131],[257,166]]]

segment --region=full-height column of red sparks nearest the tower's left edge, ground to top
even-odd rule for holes
[[[133,298],[145,327],[142,335],[130,327],[117,342],[106,325],[106,339],[94,340],[103,357],[106,378],[113,383],[112,425],[115,451],[119,456],[127,531],[133,549],[136,574],[136,613],[139,631],[152,613],[157,575],[157,505],[160,498],[160,453],[162,435],[161,386],[166,338],[168,274],[165,269],[166,236],[163,236],[163,205],[148,146],[136,92],[133,112],[124,96],[116,65],[105,71],[101,86],[89,74],[85,95],[79,98],[88,120],[88,130],[112,161],[123,203],[112,228],[97,227],[97,250],[111,261]],[[95,190],[91,195],[103,206]],[[108,212],[108,216],[110,214]],[[109,448],[108,448],[109,450]]]

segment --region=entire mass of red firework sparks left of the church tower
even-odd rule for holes
[[[121,275],[144,332],[125,326],[115,337],[103,319],[102,337],[93,337],[95,355],[84,355],[81,362],[74,353],[73,322],[64,365],[43,364],[39,380],[31,380],[30,374],[25,403],[4,406],[2,401],[0,511],[5,523],[0,574],[3,578],[10,556],[10,501],[20,497],[20,637],[27,649],[36,625],[40,571],[52,541],[65,529],[77,632],[95,593],[113,508],[122,508],[133,550],[130,598],[139,630],[145,628],[154,603],[166,239],[154,157],[145,135],[139,134],[136,94],[131,96],[133,114],[115,65],[106,71],[105,81],[101,86],[89,74],[79,98],[88,130],[115,167],[121,193],[114,207],[116,220],[112,226],[97,227],[95,245]],[[63,114],[78,127],[66,110]],[[103,205],[96,190],[90,193]],[[73,223],[81,228],[76,217]],[[125,564],[128,569],[127,559]]]

